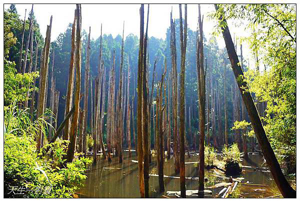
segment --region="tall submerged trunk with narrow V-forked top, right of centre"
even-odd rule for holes
[[[180,20],[180,48],[181,48],[181,72],[180,72],[180,112],[179,112],[179,134],[180,134],[180,196],[185,195],[185,166],[184,166],[184,72],[185,72],[185,52],[186,52],[186,32],[187,32],[187,5],[184,5],[184,33],[182,30],[182,13],[181,4],[179,4],[179,20]]]

